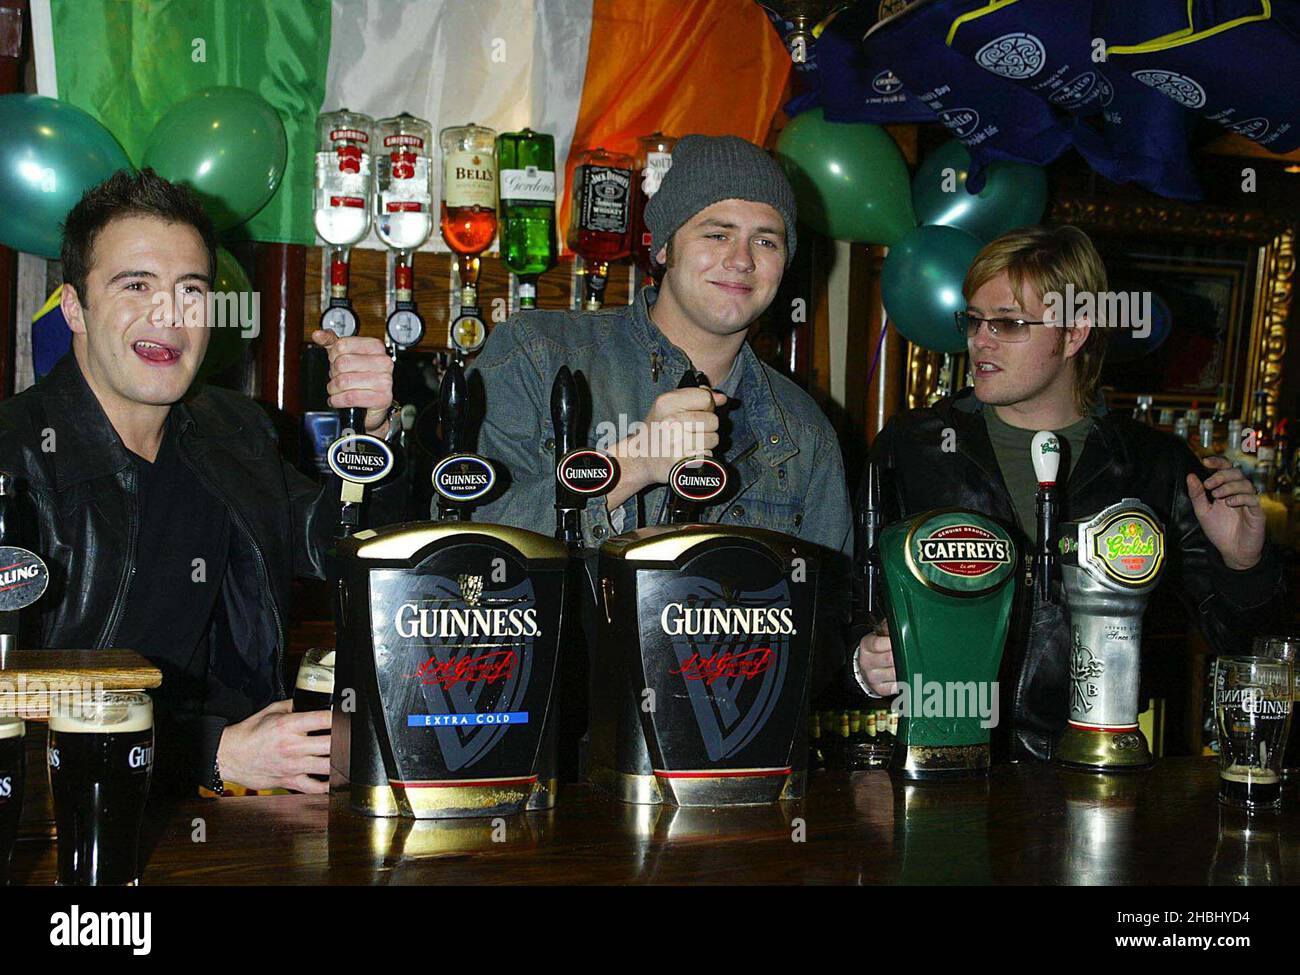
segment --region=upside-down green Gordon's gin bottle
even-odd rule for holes
[[[555,266],[555,139],[524,129],[497,138],[500,256],[519,278],[519,307],[537,307],[537,278]]]

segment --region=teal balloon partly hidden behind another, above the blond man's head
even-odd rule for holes
[[[911,181],[911,200],[920,224],[953,226],[988,243],[1043,217],[1048,205],[1048,174],[1043,166],[992,162],[978,194],[966,191],[970,168],[970,152],[956,139],[926,157]]]

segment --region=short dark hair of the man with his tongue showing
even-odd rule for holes
[[[86,306],[86,277],[99,231],[121,217],[157,217],[168,224],[192,226],[208,251],[208,278],[217,274],[217,231],[187,187],[173,183],[152,169],[133,173],[118,169],[104,182],[82,194],[64,220],[64,243],[60,257],[64,281],[77,290],[77,299]]]

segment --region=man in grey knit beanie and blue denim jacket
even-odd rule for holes
[[[478,451],[503,465],[510,489],[476,519],[550,534],[555,463],[550,390],[562,365],[590,387],[589,443],[619,459],[620,478],[581,515],[585,545],[663,523],[668,471],[712,452],[738,490],[702,520],[753,525],[822,547],[823,675],[842,666],[837,621],[848,615],[853,529],[844,463],[812,398],[764,365],[745,342],[796,246],[785,176],[757,146],[688,135],[646,208],[663,283],[602,312],[521,312],[494,329],[474,364],[486,412]],[[688,368],[711,389],[677,389]]]

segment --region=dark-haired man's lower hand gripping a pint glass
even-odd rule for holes
[[[276,701],[221,733],[217,766],[221,777],[247,789],[329,792],[329,711],[294,712],[292,701]]]

